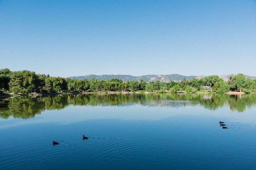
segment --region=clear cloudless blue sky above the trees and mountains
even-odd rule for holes
[[[256,1],[0,0],[0,68],[256,76]]]

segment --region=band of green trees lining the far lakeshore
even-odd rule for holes
[[[31,94],[31,93],[68,93],[68,92],[107,92],[107,91],[148,91],[159,93],[196,93],[205,92],[203,87],[212,87],[209,92],[225,93],[228,91],[256,92],[256,80],[246,79],[244,74],[230,75],[228,82],[217,75],[202,79],[183,79],[180,82],[145,82],[111,79],[108,81],[92,78],[90,80],[50,77],[46,74],[36,74],[34,71],[0,70],[0,94]]]

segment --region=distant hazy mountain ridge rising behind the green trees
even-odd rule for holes
[[[204,75],[201,76],[184,76],[184,75],[180,75],[180,74],[167,74],[167,75],[161,75],[161,74],[149,74],[149,75],[143,75],[143,76],[131,76],[131,75],[123,75],[123,74],[103,74],[103,75],[95,75],[95,74],[89,74],[89,75],[85,75],[85,76],[74,76],[74,77],[68,77],[70,79],[92,79],[92,78],[96,78],[96,79],[100,79],[100,80],[110,80],[113,78],[116,79],[121,79],[122,81],[126,82],[126,81],[134,81],[134,80],[144,80],[145,82],[155,82],[157,80],[161,81],[161,82],[171,82],[171,81],[181,81],[183,78],[186,79],[192,79],[192,78],[197,78],[197,79],[201,79],[205,77]],[[221,75],[219,76],[222,79],[224,79],[224,81],[227,81],[228,78],[230,77],[230,75]],[[246,78],[252,78],[252,79],[256,79],[256,77],[253,76],[247,76],[245,75]]]

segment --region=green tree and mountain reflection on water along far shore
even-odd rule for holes
[[[231,111],[243,112],[256,105],[256,95],[226,94],[59,94],[51,96],[12,97],[0,100],[0,118],[29,119],[45,110],[60,110],[69,105],[185,107],[200,105],[216,110],[229,105]]]

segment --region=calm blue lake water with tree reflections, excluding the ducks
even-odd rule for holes
[[[0,170],[36,169],[255,170],[256,95],[1,99]]]

